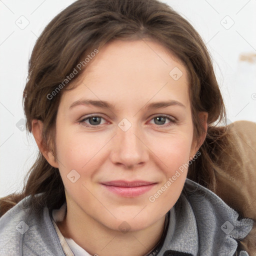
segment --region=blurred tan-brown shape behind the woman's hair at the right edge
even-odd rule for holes
[[[233,145],[224,145],[216,160],[214,192],[242,216],[256,220],[256,123],[241,120],[227,127]]]

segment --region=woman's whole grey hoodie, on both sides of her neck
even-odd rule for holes
[[[26,201],[27,197],[0,217],[0,256],[65,256],[52,212],[44,207],[39,216],[28,215]],[[170,212],[157,256],[234,256],[237,240],[242,240],[253,225],[252,219],[239,218],[216,194],[189,179]],[[237,255],[248,253],[240,251]]]

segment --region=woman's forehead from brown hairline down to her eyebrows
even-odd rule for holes
[[[174,76],[173,76],[174,75]],[[81,74],[82,82],[63,97],[129,102],[175,97],[188,100],[185,66],[161,44],[149,40],[114,40],[105,44]]]

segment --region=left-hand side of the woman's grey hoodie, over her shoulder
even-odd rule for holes
[[[48,208],[33,212],[29,196],[0,217],[0,255],[64,255]]]

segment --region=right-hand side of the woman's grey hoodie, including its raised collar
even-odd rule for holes
[[[209,189],[186,179],[159,255],[233,255],[253,220],[239,218]],[[218,246],[216,246],[218,244]]]

